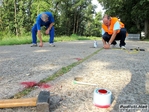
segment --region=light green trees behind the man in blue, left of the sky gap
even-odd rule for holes
[[[18,37],[30,32],[37,15],[44,11],[53,13],[56,35],[101,35],[97,22],[101,17],[94,17],[91,0],[3,0],[0,9],[0,39],[6,37],[3,32]]]

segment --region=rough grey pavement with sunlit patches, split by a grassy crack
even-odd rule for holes
[[[51,112],[118,112],[120,104],[148,104],[149,106],[149,43],[126,41],[128,50],[102,49],[74,67],[65,75],[49,82],[52,85]],[[93,41],[57,42],[56,47],[30,47],[14,45],[0,47],[0,99],[9,98],[21,91],[23,81],[40,81],[60,68],[94,53],[102,47],[93,47]],[[132,48],[145,51],[131,51]],[[98,86],[74,84],[74,77]],[[95,88],[112,92],[112,104],[107,109],[93,105]],[[25,97],[35,97],[38,88]],[[36,112],[35,107],[0,109],[0,112]]]

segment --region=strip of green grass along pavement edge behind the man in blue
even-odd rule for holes
[[[100,40],[100,37],[85,37],[85,36],[77,36],[77,35],[71,35],[71,36],[59,36],[55,37],[55,42],[64,42],[64,41],[75,41],[75,40]],[[49,41],[49,36],[43,36],[42,37],[43,42]],[[37,39],[39,42],[39,39]],[[31,36],[20,36],[20,37],[5,37],[2,40],[0,40],[0,46],[3,45],[21,45],[21,44],[31,44],[32,37]]]

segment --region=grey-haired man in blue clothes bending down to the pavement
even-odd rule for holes
[[[41,36],[41,27],[45,26],[46,31],[45,34],[49,34],[49,43],[50,46],[55,46],[54,43],[54,17],[51,12],[43,12],[39,14],[36,18],[36,23],[32,27],[32,45],[31,47],[37,46],[37,36],[39,38],[39,47],[43,46],[42,36]]]

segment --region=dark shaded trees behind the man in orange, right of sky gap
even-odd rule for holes
[[[129,33],[144,31],[145,21],[149,21],[148,0],[98,0],[106,13],[116,16],[125,23]],[[149,32],[149,27],[148,27]]]

